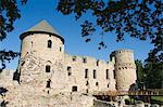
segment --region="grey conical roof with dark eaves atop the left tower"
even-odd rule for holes
[[[32,34],[53,35],[55,37],[59,37],[64,42],[62,36],[55,29],[53,29],[53,27],[46,19],[41,21],[40,23],[36,24],[34,27],[26,30],[24,34],[20,36],[20,38],[21,40],[23,40],[26,36]]]

